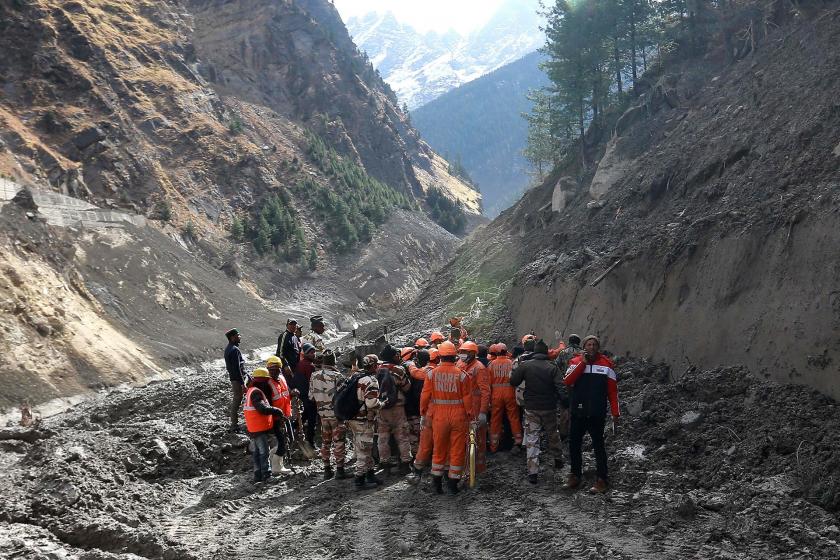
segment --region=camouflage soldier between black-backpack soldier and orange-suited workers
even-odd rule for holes
[[[386,388],[394,388],[389,398],[395,399],[394,402],[388,403],[387,408],[383,407],[379,411],[379,462],[385,468],[386,474],[391,474],[391,469],[396,464],[396,459],[391,459],[393,435],[400,452],[400,474],[408,474],[411,471],[411,441],[405,415],[405,396],[411,388],[411,378],[405,368],[399,365],[402,359],[396,348],[386,346],[379,357],[384,362],[376,374],[379,390],[384,392]]]

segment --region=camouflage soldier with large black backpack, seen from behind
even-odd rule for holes
[[[376,381],[376,368],[379,359],[376,354],[362,358],[364,375],[356,383],[356,397],[362,406],[355,418],[347,422],[353,432],[353,448],[356,453],[356,488],[366,485],[378,486],[382,481],[373,473],[373,432],[376,415],[383,405],[379,400],[379,383]]]

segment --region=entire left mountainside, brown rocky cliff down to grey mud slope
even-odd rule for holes
[[[14,0],[0,52],[3,404],[389,311],[457,242],[426,191],[480,214],[326,0]]]

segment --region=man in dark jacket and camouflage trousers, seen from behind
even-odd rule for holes
[[[510,384],[525,382],[525,449],[528,457],[528,480],[537,483],[540,470],[540,430],[548,434],[548,445],[554,455],[554,468],[563,467],[560,435],[557,433],[557,404],[565,393],[563,372],[548,359],[548,345],[539,340],[529,360],[520,362],[510,376]]]

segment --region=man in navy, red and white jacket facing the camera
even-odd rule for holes
[[[572,472],[564,486],[573,490],[580,486],[583,470],[582,443],[584,434],[592,439],[595,451],[595,468],[598,480],[590,492],[603,494],[607,491],[607,450],[604,445],[604,425],[607,416],[607,401],[613,418],[613,427],[618,425],[618,378],[612,360],[601,354],[601,341],[596,336],[583,339],[583,353],[569,362],[569,369],[563,383],[571,387],[569,402],[571,425],[569,426],[569,456]]]

